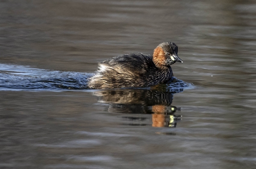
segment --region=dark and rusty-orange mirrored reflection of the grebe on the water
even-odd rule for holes
[[[124,114],[152,114],[153,127],[176,127],[181,116],[175,115],[177,108],[171,106],[173,95],[183,89],[166,89],[155,86],[150,89],[105,89],[96,90],[99,103],[108,103],[108,112]],[[127,125],[145,125],[145,117],[124,116]],[[131,123],[132,122],[132,123]]]

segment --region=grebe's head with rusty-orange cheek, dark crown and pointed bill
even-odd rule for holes
[[[153,53],[153,61],[159,68],[165,68],[173,63],[183,61],[178,57],[178,46],[173,42],[160,43]]]

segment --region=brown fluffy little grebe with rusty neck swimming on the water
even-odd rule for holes
[[[160,43],[153,56],[142,53],[124,54],[99,63],[98,70],[88,79],[92,89],[146,87],[168,83],[173,77],[173,63],[181,62],[178,46],[172,42]]]

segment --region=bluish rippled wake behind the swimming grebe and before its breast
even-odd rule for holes
[[[0,64],[0,90],[86,90],[90,89],[87,87],[87,79],[92,75]],[[177,82],[165,87],[169,91],[181,92],[195,86],[177,79]]]

